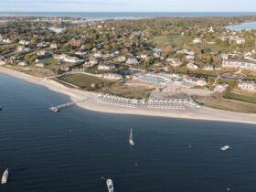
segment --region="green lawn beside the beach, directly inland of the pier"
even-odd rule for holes
[[[64,80],[73,85],[80,87],[81,89],[91,89],[91,84],[94,83],[97,85],[97,88],[101,88],[104,84],[108,84],[112,81],[104,80],[101,78],[93,77],[85,74],[74,74],[69,76],[62,76],[59,80]]]

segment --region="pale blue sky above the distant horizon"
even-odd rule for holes
[[[0,11],[255,12],[256,0],[0,0]]]

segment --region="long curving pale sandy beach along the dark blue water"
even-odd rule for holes
[[[256,114],[246,114],[240,112],[229,112],[208,107],[201,110],[152,110],[139,106],[138,108],[126,108],[114,106],[110,104],[102,104],[97,102],[98,94],[89,91],[80,91],[66,87],[55,80],[46,80],[28,75],[14,69],[6,69],[0,67],[0,73],[14,77],[20,80],[44,86],[50,91],[56,91],[69,96],[71,101],[85,100],[77,104],[82,109],[112,114],[132,114],[154,117],[166,117],[177,119],[190,119],[200,121],[218,121],[227,123],[249,123],[256,124]]]

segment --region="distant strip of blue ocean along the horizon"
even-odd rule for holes
[[[139,13],[139,12],[91,12],[91,13],[72,13],[72,12],[0,12],[0,16],[70,16],[82,17],[89,20],[101,19],[136,19],[151,17],[201,17],[201,16],[256,16],[256,12],[176,12],[176,13]]]

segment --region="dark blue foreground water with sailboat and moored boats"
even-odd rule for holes
[[[256,191],[255,125],[48,110],[67,101],[0,74],[1,192],[107,192],[105,178],[116,192]]]

